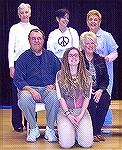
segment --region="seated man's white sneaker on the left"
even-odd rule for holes
[[[40,136],[39,128],[36,127],[30,130],[30,134],[27,136],[27,142],[35,142],[36,139]]]

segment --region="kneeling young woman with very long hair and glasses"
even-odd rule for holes
[[[63,148],[72,147],[75,141],[82,147],[93,144],[92,122],[87,111],[91,87],[91,76],[82,53],[77,48],[69,48],[64,52],[56,81],[60,101],[57,128],[59,144]]]

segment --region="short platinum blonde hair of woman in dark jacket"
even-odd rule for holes
[[[92,40],[94,42],[94,44],[97,46],[96,34],[93,33],[92,31],[83,32],[80,35],[80,47],[81,47],[82,50],[84,50],[86,38]]]

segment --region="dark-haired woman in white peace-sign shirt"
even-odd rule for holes
[[[52,31],[48,36],[47,49],[51,50],[59,59],[67,48],[79,48],[79,36],[75,29],[67,27],[69,23],[70,12],[67,9],[56,11],[56,21],[58,29]]]

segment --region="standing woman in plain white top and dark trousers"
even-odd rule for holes
[[[18,16],[20,22],[14,24],[9,31],[8,61],[11,78],[14,76],[16,60],[24,51],[30,48],[28,42],[29,32],[38,28],[29,22],[31,17],[31,6],[29,4],[21,3],[19,5]],[[15,131],[23,131],[22,113],[17,105],[17,90],[14,85],[12,85],[12,125]]]

